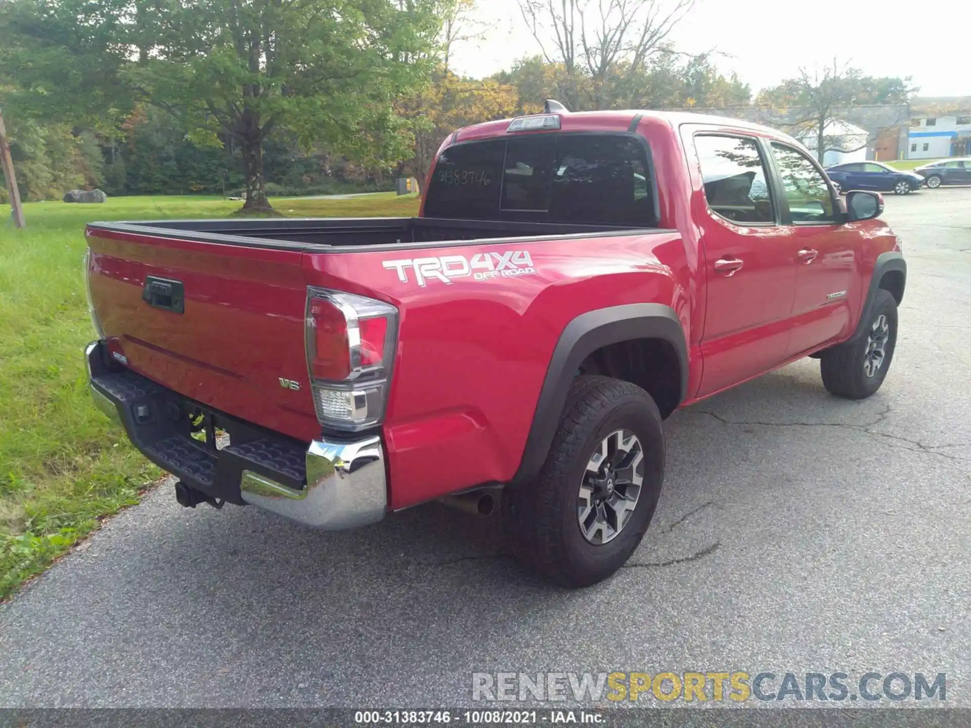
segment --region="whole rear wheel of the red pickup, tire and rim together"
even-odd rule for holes
[[[627,381],[578,377],[539,478],[506,488],[517,555],[563,586],[607,579],[644,538],[663,479],[651,395]]]

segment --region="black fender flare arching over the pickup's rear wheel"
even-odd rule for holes
[[[681,319],[674,309],[663,304],[644,303],[581,314],[567,324],[553,349],[519,470],[513,477],[514,483],[534,480],[546,462],[570,385],[586,357],[598,348],[632,339],[662,339],[674,347],[681,367],[679,402],[685,401],[687,343]]]

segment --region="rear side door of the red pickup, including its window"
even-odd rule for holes
[[[692,209],[707,278],[697,393],[705,396],[784,361],[798,244],[780,224],[759,140],[696,132],[686,141],[703,182]]]

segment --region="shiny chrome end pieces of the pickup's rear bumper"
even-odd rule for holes
[[[126,421],[130,419],[128,408],[116,404],[94,385],[100,366],[99,346],[99,342],[93,342],[84,350],[94,406],[121,424],[136,447],[140,447],[137,437],[131,434],[132,423]],[[375,435],[351,442],[316,440],[307,447],[304,460],[307,478],[301,489],[242,470],[240,499],[305,526],[330,531],[375,523],[384,517],[387,489],[381,438]],[[165,468],[165,463],[159,464]],[[233,471],[233,480],[236,472]]]

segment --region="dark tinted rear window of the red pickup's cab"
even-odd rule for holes
[[[428,217],[651,226],[647,153],[605,134],[530,134],[450,147],[428,189]]]

